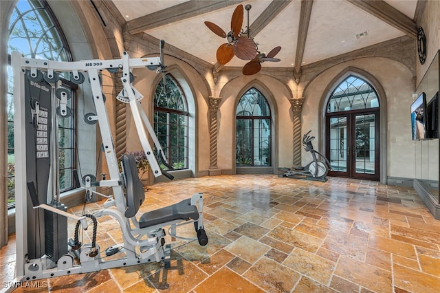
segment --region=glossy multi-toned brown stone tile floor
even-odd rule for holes
[[[113,268],[40,280],[40,289],[22,284],[14,292],[439,291],[440,221],[412,188],[336,177],[322,183],[221,175],[150,186],[141,212],[197,192],[205,195],[209,243],[168,241],[170,269],[161,263]],[[120,242],[113,219],[98,222],[101,250]],[[71,235],[73,227],[72,221]],[[12,235],[0,250],[3,288],[15,271],[14,241]]]

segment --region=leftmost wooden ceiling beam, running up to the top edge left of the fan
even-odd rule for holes
[[[127,21],[127,28],[130,34],[137,34],[145,30],[159,28],[168,23],[182,21],[190,17],[196,17],[214,10],[234,6],[245,0],[221,0],[221,1],[197,1],[190,0],[180,3],[176,6],[166,8],[151,14],[138,17],[131,21]]]

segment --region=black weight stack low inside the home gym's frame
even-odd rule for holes
[[[67,212],[67,206],[61,202],[52,202],[50,206]],[[67,253],[67,217],[50,210],[44,210],[45,254],[56,263]]]

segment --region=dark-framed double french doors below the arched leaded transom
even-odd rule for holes
[[[331,176],[380,180],[379,111],[327,114]]]

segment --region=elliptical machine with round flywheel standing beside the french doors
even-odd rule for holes
[[[311,161],[306,166],[294,166],[293,169],[290,168],[279,168],[281,173],[278,173],[278,177],[292,177],[298,179],[315,180],[315,181],[327,181],[327,173],[331,170],[330,162],[322,155],[320,152],[314,150],[311,141],[315,139],[314,136],[310,136],[311,131],[303,135],[303,146],[306,151],[311,153],[313,161]],[[320,155],[324,160],[318,160],[316,155]]]

